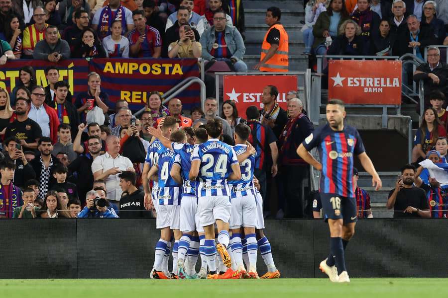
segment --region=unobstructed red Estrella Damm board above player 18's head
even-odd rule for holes
[[[401,104],[401,61],[330,60],[328,97],[347,104]]]

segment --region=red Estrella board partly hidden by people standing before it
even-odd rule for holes
[[[233,100],[238,115],[244,117],[247,107],[263,107],[261,96],[267,85],[277,87],[277,102],[286,110],[286,95],[297,90],[297,75],[224,75],[224,100]]]

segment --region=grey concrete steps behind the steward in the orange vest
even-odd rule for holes
[[[308,57],[303,56],[304,43],[302,24],[305,19],[303,1],[291,0],[249,0],[244,2],[245,15],[245,46],[244,62],[250,70],[260,60],[261,43],[268,26],[264,23],[266,8],[277,6],[282,11],[280,22],[288,32],[289,37],[289,71],[305,71],[308,67]]]

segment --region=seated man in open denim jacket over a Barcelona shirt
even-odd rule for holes
[[[236,27],[225,23],[224,11],[215,12],[214,25],[204,31],[200,43],[202,58],[207,61],[224,61],[236,72],[247,72],[247,65],[242,61],[246,47]]]

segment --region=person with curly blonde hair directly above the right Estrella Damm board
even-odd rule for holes
[[[328,48],[327,55],[364,55],[368,52],[367,45],[369,43],[361,37],[361,28],[358,24],[353,20],[346,20],[340,25],[339,36]]]

